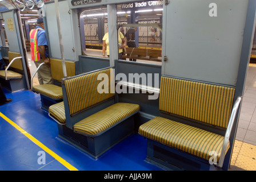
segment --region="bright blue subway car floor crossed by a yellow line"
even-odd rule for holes
[[[40,96],[29,90],[10,93],[13,101],[0,106],[0,112],[43,143],[60,158],[79,171],[159,171],[146,163],[146,139],[133,134],[103,154],[98,160],[58,137],[57,123],[41,109]],[[69,170],[53,156],[46,154],[46,163],[38,164],[41,147],[0,117],[0,170],[35,171]],[[44,152],[44,151],[43,151]]]

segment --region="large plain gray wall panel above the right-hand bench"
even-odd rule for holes
[[[216,3],[217,16],[209,15],[210,3]],[[247,6],[247,0],[170,1],[163,38],[168,61],[162,73],[235,85]]]

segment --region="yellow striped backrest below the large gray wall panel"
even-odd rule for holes
[[[159,110],[226,128],[234,93],[228,86],[162,76]]]

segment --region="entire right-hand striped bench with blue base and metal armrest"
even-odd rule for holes
[[[221,168],[241,102],[238,97],[233,108],[234,93],[230,86],[162,76],[161,115],[139,127],[147,160],[167,169]]]

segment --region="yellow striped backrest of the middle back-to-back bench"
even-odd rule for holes
[[[98,80],[98,76],[106,76],[107,80]],[[112,77],[112,78],[111,78]],[[86,109],[87,107],[98,104],[115,96],[113,88],[115,85],[111,81],[114,81],[113,69],[103,69],[101,71],[89,73],[82,76],[75,76],[65,80],[65,89],[67,94],[67,102],[69,104],[70,115]],[[109,86],[108,92],[98,92],[98,86],[102,89],[102,86]]]

